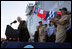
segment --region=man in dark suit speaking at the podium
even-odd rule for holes
[[[20,17],[18,17],[17,20],[20,23],[18,26],[19,41],[28,42],[30,35],[29,35],[28,29],[27,29],[26,21],[22,21]]]

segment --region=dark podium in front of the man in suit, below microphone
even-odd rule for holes
[[[17,38],[19,37],[19,32],[18,30],[13,29],[10,25],[7,25],[5,35],[6,37]]]

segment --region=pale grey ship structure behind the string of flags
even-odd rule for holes
[[[30,38],[33,40],[34,33],[36,31],[36,26],[38,22],[42,21],[43,24],[49,24],[48,21],[44,21],[37,14],[32,13],[33,7],[37,6],[42,10],[55,11],[58,12],[59,9],[66,7],[68,12],[71,12],[71,1],[35,1],[35,4],[29,3],[26,7],[26,16],[27,16],[27,27],[30,33]]]

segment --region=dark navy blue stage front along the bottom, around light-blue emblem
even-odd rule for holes
[[[4,42],[1,48],[24,48],[27,45],[32,45],[34,48],[71,48],[71,43],[38,43],[38,42]]]

